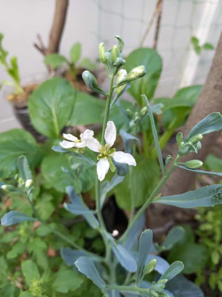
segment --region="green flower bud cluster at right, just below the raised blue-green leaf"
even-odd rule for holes
[[[178,155],[183,156],[186,154],[189,154],[190,152],[197,153],[198,150],[202,148],[200,140],[202,140],[203,135],[197,134],[189,139],[189,141],[184,142],[183,141],[183,133],[179,132],[176,135],[176,141],[178,145]]]

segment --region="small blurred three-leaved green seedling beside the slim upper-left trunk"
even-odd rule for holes
[[[50,66],[52,69],[56,69],[62,66],[62,64],[67,64],[68,67],[70,68],[73,78],[76,79],[76,75],[77,75],[76,64],[79,62],[81,58],[81,51],[82,51],[81,43],[76,42],[70,49],[69,59],[67,59],[65,56],[62,56],[58,53],[52,53],[52,54],[46,55],[44,59],[44,63]],[[92,63],[89,58],[83,59],[81,62],[79,62],[78,66],[80,68],[89,69],[90,71],[93,71],[96,69],[96,64]]]

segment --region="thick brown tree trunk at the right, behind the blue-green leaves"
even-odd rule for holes
[[[184,137],[199,121],[205,118],[212,112],[222,111],[222,33],[219,38],[219,42],[215,51],[215,56],[207,76],[207,80],[202,88],[202,92],[197,99],[197,103],[194,106],[192,112],[189,115],[188,120],[182,132]],[[184,156],[180,159],[181,162],[185,162],[191,159],[200,159],[204,161],[207,154],[215,145],[220,132],[210,133],[205,135],[201,140],[202,149],[198,151],[198,155],[195,153]],[[173,158],[176,157],[178,148],[175,145]],[[188,170],[182,170],[176,168],[171,174],[170,178],[166,182],[165,186],[161,190],[163,196],[181,194],[189,190],[195,175]]]

